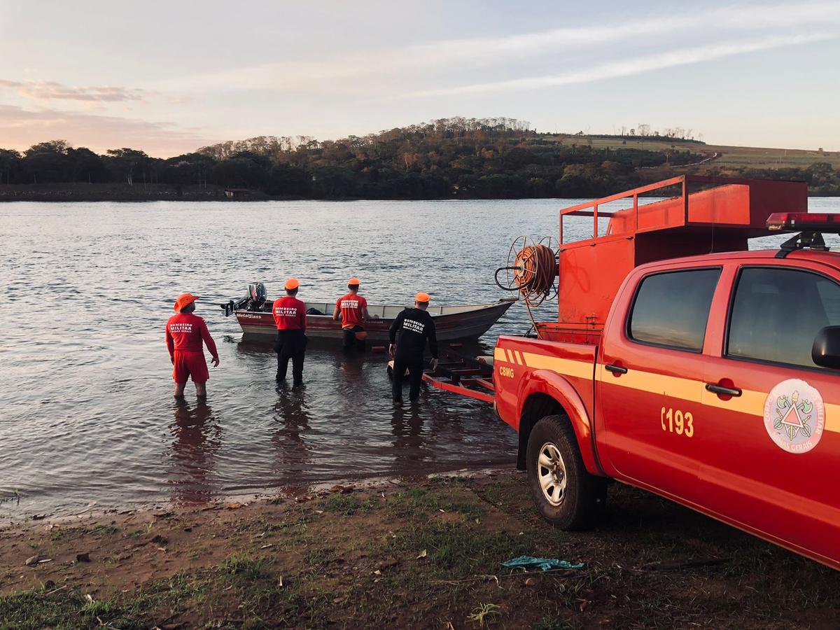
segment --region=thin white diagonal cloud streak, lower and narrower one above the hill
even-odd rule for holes
[[[745,53],[769,50],[782,46],[810,44],[825,39],[836,39],[834,34],[785,35],[755,39],[753,41],[724,42],[671,50],[656,55],[643,55],[622,61],[591,66],[583,70],[566,72],[560,75],[528,76],[522,79],[493,81],[491,83],[473,83],[458,87],[444,87],[432,90],[409,92],[405,97],[441,97],[481,92],[503,92],[508,90],[528,90],[540,87],[566,86],[575,83],[591,83],[614,79],[621,76],[633,76],[643,72],[662,70],[675,66],[686,66]]]

